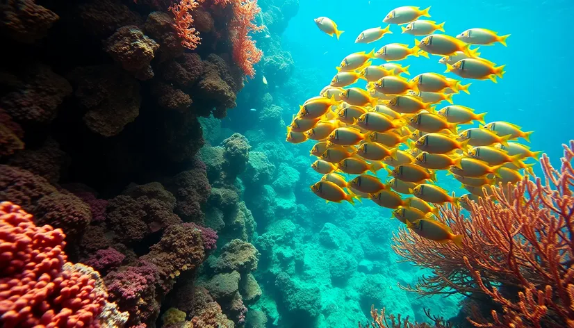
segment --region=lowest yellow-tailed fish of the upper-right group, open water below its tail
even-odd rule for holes
[[[496,76],[502,79],[502,76],[506,73],[504,70],[505,66],[506,65],[495,66],[495,63],[482,58],[466,58],[457,61],[454,65],[447,64],[445,73],[451,72],[465,79],[490,79],[494,83],[498,83]]]

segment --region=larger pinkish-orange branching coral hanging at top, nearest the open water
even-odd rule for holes
[[[226,0],[220,0],[226,3]],[[255,46],[255,41],[249,36],[252,31],[261,31],[263,26],[254,23],[255,15],[261,8],[256,0],[234,0],[233,18],[231,19],[231,42],[233,42],[233,60],[243,70],[245,75],[253,77],[253,65],[259,63],[263,51]]]

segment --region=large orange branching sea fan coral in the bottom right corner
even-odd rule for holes
[[[463,247],[440,245],[400,230],[393,249],[405,261],[433,270],[416,286],[422,295],[480,293],[502,308],[477,327],[574,327],[574,141],[556,170],[541,158],[544,183],[525,177],[493,189],[493,199],[441,208],[438,220],[462,233]]]

